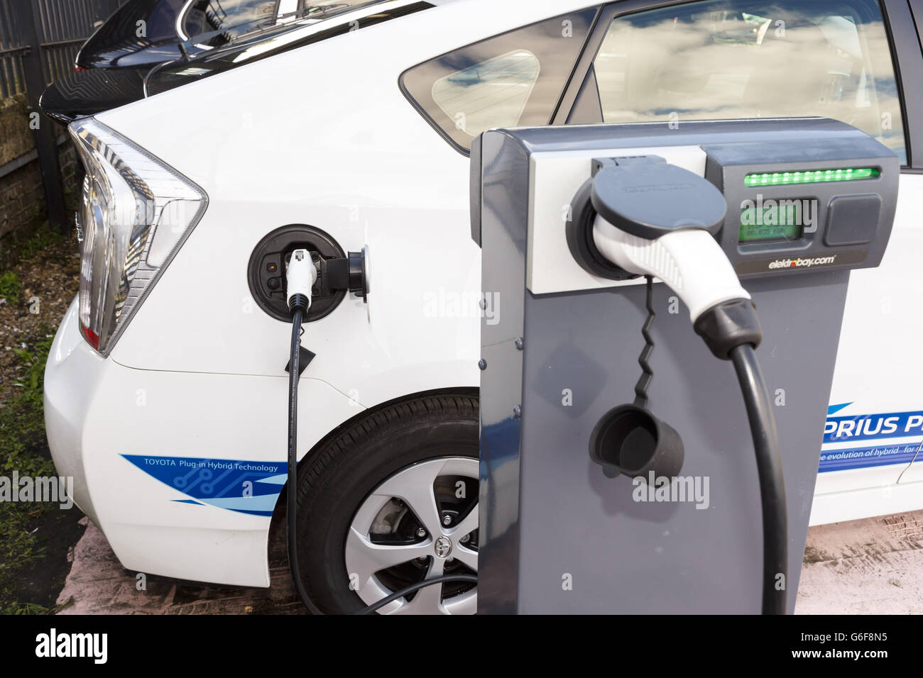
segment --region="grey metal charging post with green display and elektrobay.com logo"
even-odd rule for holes
[[[594,172],[629,157],[681,167],[725,197],[711,232],[760,318],[791,613],[849,270],[881,262],[899,174],[892,151],[823,118],[477,139],[472,234],[483,293],[499,302],[481,321],[478,611],[761,611],[761,487],[741,387],[665,284],[653,284],[647,408],[681,438],[679,469],[649,487],[630,473],[608,477],[590,457],[597,423],[635,395],[648,312],[644,278],[606,273],[592,245],[595,211],[580,194]],[[619,190],[663,201],[682,184]],[[581,228],[589,245],[574,237]]]

